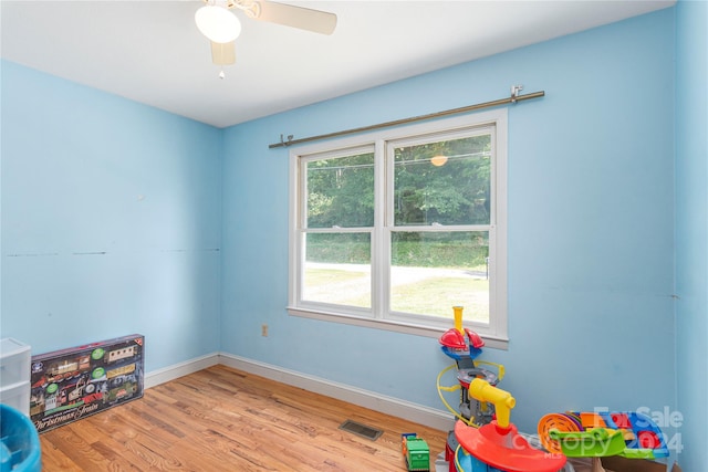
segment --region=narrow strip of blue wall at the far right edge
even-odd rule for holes
[[[676,293],[679,458],[708,466],[708,3],[676,7]]]

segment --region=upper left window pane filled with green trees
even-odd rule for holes
[[[308,228],[374,225],[374,153],[313,160],[308,177]]]

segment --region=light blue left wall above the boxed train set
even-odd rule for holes
[[[221,132],[2,62],[2,336],[218,350]]]

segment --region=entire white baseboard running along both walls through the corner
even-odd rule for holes
[[[448,431],[454,427],[452,415],[444,410],[436,410],[435,408],[413,403],[394,397],[387,397],[385,395],[352,387],[350,385],[334,382],[320,377],[310,376],[295,370],[283,369],[282,367],[225,353],[208,354],[185,363],[150,371],[145,375],[145,388],[155,387],[217,364],[223,364],[225,366],[243,370],[244,373],[267,377],[281,384],[292,385],[326,397],[337,398],[353,405],[358,405],[360,407],[403,418],[440,431]]]

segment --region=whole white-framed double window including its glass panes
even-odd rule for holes
[[[506,109],[290,153],[289,312],[507,340]]]

